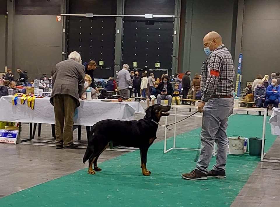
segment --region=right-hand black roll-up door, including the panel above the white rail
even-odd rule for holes
[[[125,1],[125,15],[143,13],[174,15],[174,8],[175,1],[172,0]],[[160,76],[162,73],[170,74],[173,37],[174,18],[172,17],[153,17],[151,19],[124,17],[122,63],[127,63],[132,68],[133,62],[135,65],[137,62],[137,66],[133,67],[135,70],[144,69],[147,72],[153,70],[156,76]],[[167,69],[168,72],[159,69]]]

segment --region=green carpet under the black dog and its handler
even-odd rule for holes
[[[231,116],[228,135],[261,137],[262,118]],[[195,129],[179,135],[177,146],[197,148],[199,132],[200,129]],[[266,138],[265,150],[268,150],[276,139],[270,134],[269,124]],[[172,138],[170,146],[171,143]],[[4,197],[0,199],[0,206],[230,206],[260,162],[259,157],[229,155],[226,179],[181,179],[181,173],[194,169],[195,155],[194,151],[183,150],[163,154],[163,142],[155,143],[148,152],[147,167],[152,171],[149,177],[141,175],[137,150],[101,163],[103,171],[95,175],[88,175],[87,169],[83,169]],[[210,167],[214,162],[213,158]]]

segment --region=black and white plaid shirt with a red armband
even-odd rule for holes
[[[224,44],[214,50],[201,68],[201,101],[207,102],[212,95],[233,95],[234,64]]]

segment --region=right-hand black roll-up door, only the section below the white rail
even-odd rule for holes
[[[172,68],[173,21],[132,20],[125,17],[123,23],[122,63],[141,69]],[[157,63],[157,64],[156,64]],[[170,72],[169,72],[170,73]]]

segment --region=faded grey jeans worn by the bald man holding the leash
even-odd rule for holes
[[[227,122],[232,114],[234,99],[210,99],[203,108],[200,133],[201,154],[196,169],[207,174],[214,143],[218,145],[215,171],[225,171],[227,161]]]

